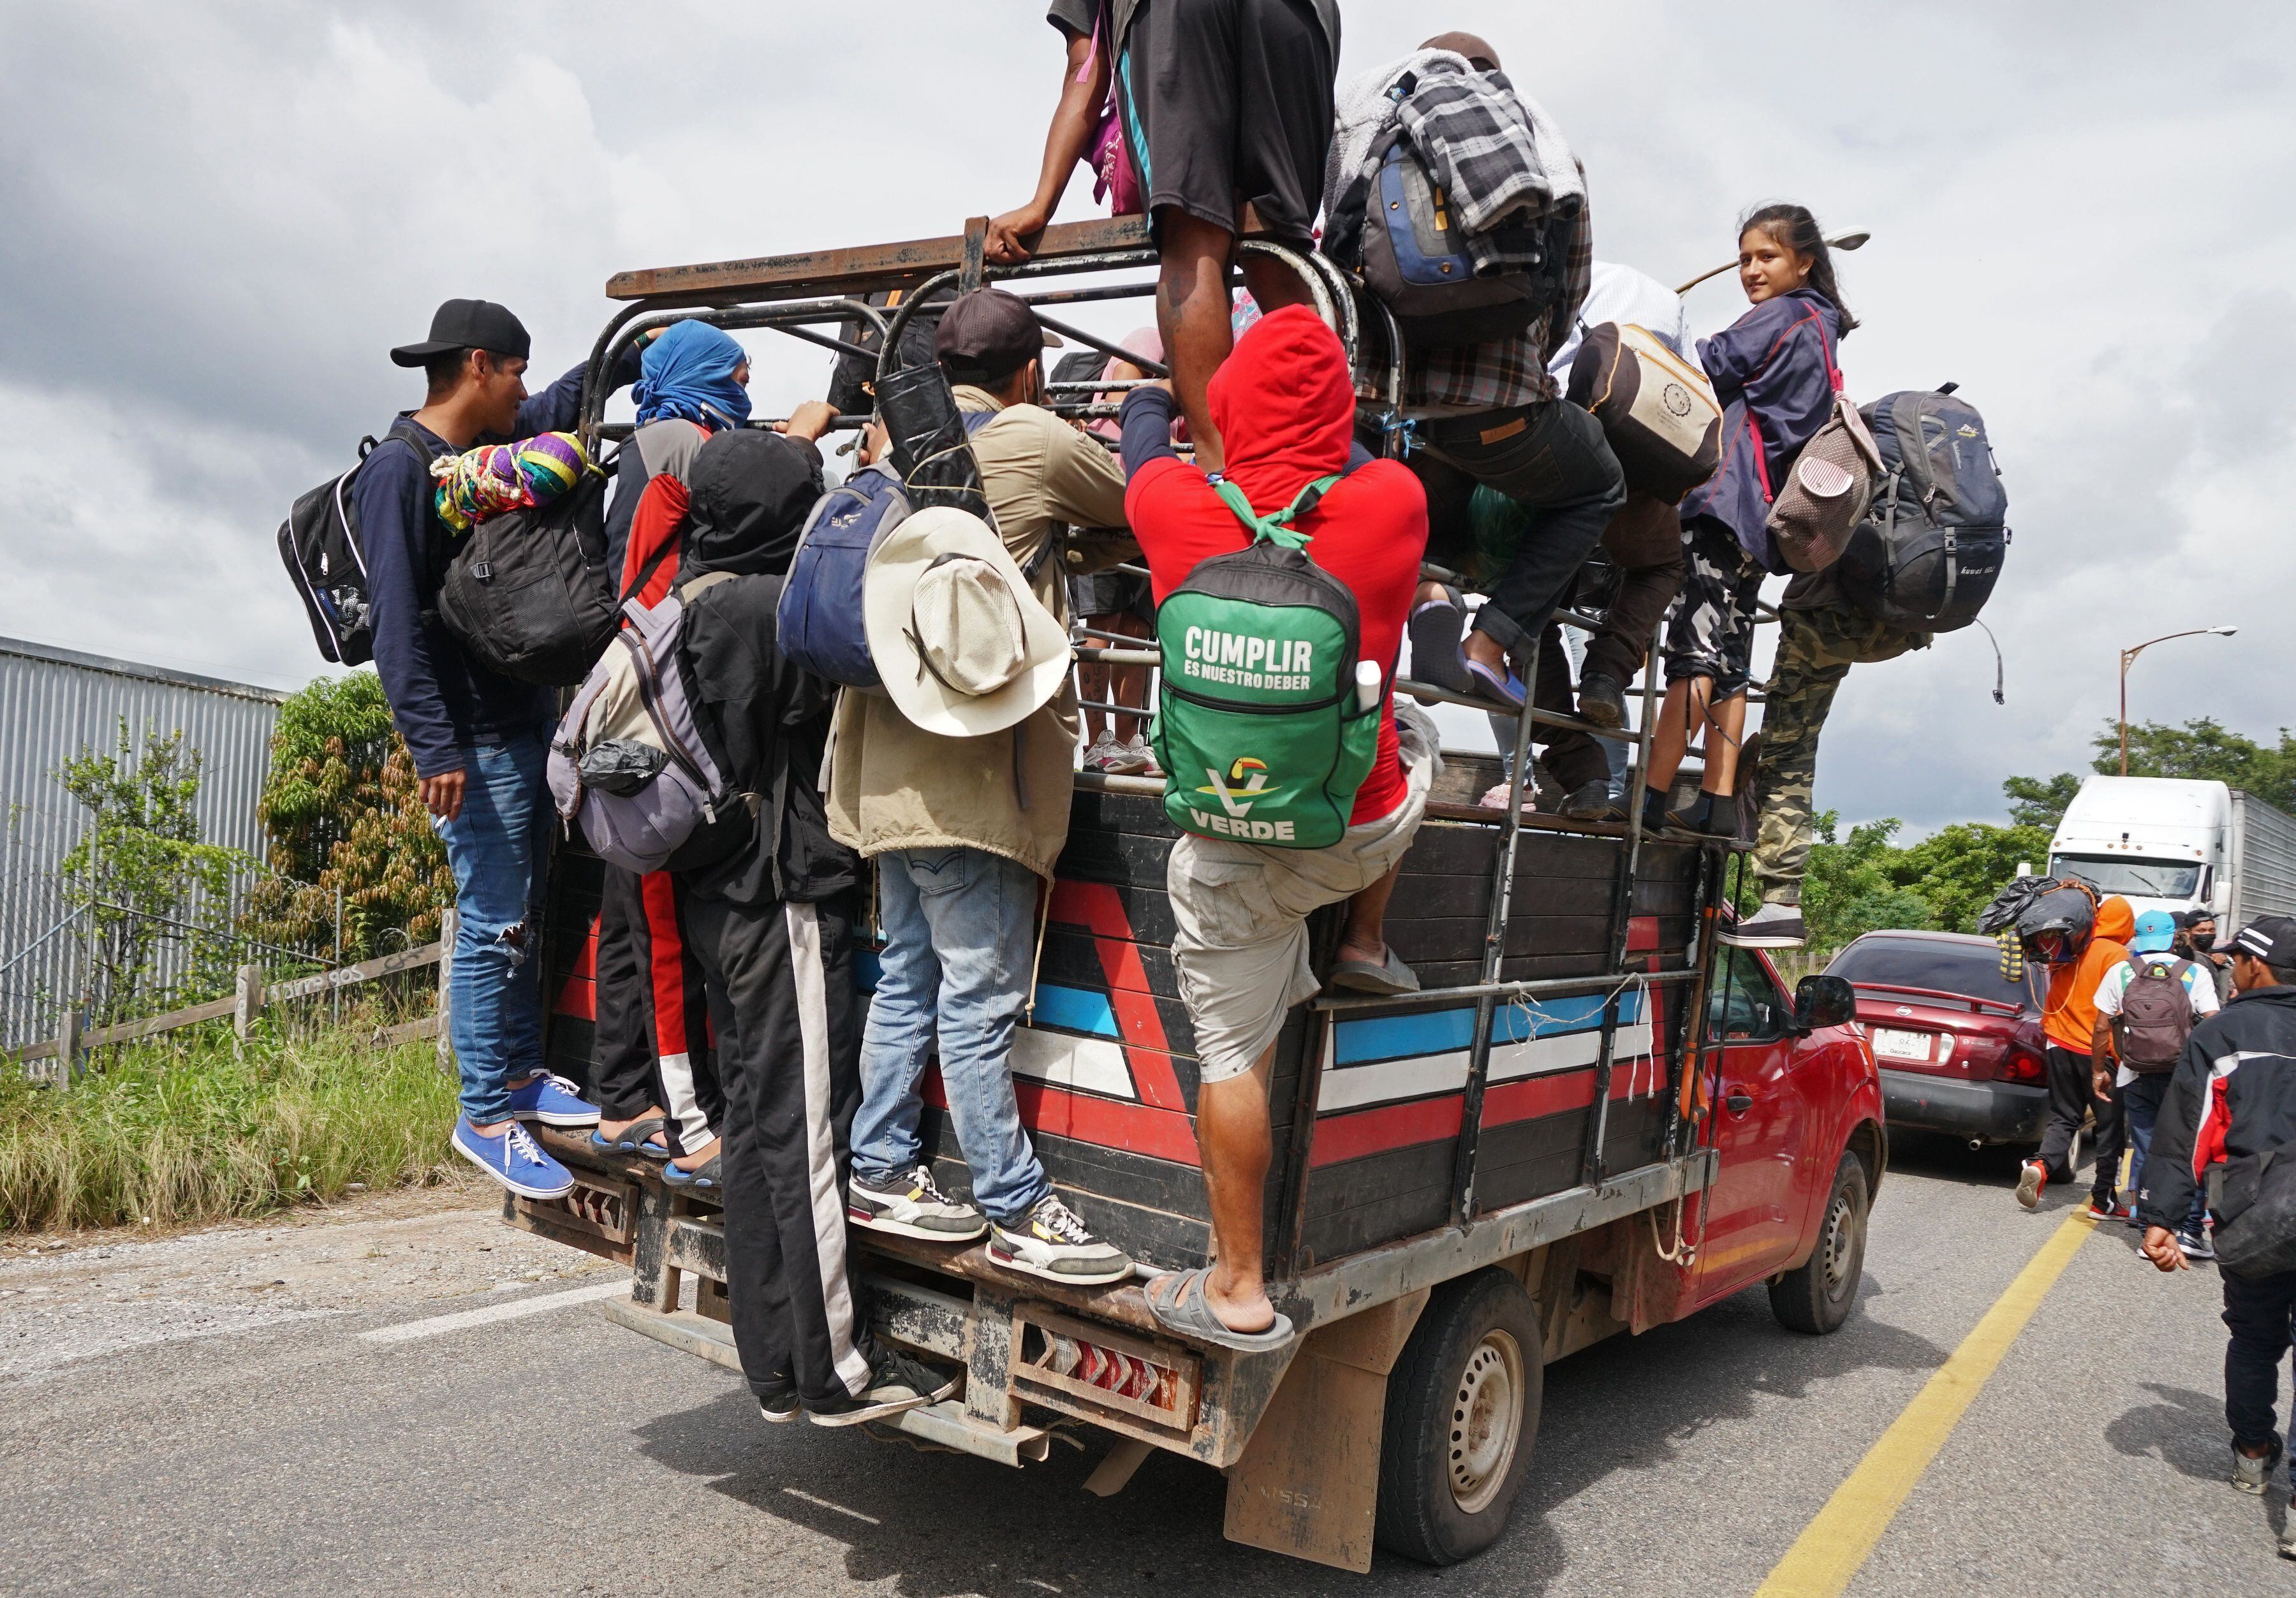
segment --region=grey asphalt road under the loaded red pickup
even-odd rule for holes
[[[0,1375],[0,1589],[1750,1593],[2055,1233],[2073,1194],[2025,1215],[2011,1169],[1901,1141],[1860,1311],[1830,1339],[1779,1329],[1754,1290],[1548,1371],[1515,1520],[1446,1573],[1382,1557],[1352,1577],[1228,1545],[1219,1476],[1169,1456],[1097,1499],[1079,1490],[1084,1453],[1010,1472],[769,1428],[728,1373],[613,1327],[595,1302],[360,1336],[604,1290],[588,1274],[455,1297],[409,1286],[381,1306],[367,1295],[0,1362],[14,1368]],[[7,1283],[25,1279],[11,1270],[0,1329]],[[2223,1481],[2216,1311],[2209,1270],[2158,1277],[2126,1228],[2087,1238],[1855,1591],[2296,1582],[2273,1552],[2285,1485],[2252,1499]]]

